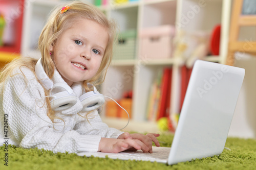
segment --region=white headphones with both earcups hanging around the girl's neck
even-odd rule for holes
[[[76,103],[81,102],[83,108],[81,111],[92,111],[98,109],[105,102],[104,95],[100,94],[96,87],[92,84],[88,84],[93,87],[93,91],[83,93],[79,98],[74,94],[72,88],[63,83],[53,83],[53,81],[46,75],[44,67],[42,67],[41,58],[35,65],[36,77],[47,90],[50,89],[51,107],[54,111],[62,111],[71,108]]]

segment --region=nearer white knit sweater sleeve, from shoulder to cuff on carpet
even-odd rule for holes
[[[22,72],[18,69],[6,80],[0,101],[4,114],[8,114],[12,140],[22,148],[44,148],[54,153],[98,151],[101,135],[54,129],[47,116],[44,89],[32,71],[25,67]]]

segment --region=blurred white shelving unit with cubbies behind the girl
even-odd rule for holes
[[[45,21],[51,9],[60,3],[67,1],[26,1],[23,32],[23,56],[39,58],[36,50],[39,34],[45,25]],[[84,1],[93,3],[93,0]],[[201,7],[200,3],[204,2]],[[199,7],[199,12],[195,7]],[[114,5],[109,0],[107,6],[99,7],[108,17],[114,18],[120,32],[127,30],[137,31],[136,55],[130,60],[115,60],[109,68],[105,82],[101,86],[101,92],[114,99],[120,99],[125,90],[133,90],[133,108],[130,125],[125,131],[157,132],[155,122],[147,122],[145,119],[148,92],[151,84],[157,76],[157,70],[163,67],[172,67],[172,103],[171,113],[179,112],[180,96],[180,65],[178,59],[164,60],[140,59],[140,46],[138,33],[147,27],[162,25],[177,25],[184,22],[184,16],[190,17],[187,23],[177,29],[207,30],[210,31],[217,23],[221,23],[221,48],[220,56],[209,56],[206,60],[225,63],[227,54],[229,15],[231,0],[198,1],[198,0],[138,0],[123,5]],[[194,13],[193,13],[194,12]],[[191,16],[190,16],[191,15]],[[126,119],[106,118],[102,116],[109,126],[117,129],[126,124]]]

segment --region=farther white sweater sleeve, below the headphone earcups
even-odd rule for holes
[[[115,128],[110,128],[103,123],[97,110],[94,110],[91,113],[81,113],[80,115],[87,117],[87,119],[77,123],[74,127],[74,130],[80,134],[97,134],[106,138],[118,138],[119,135],[124,133]]]

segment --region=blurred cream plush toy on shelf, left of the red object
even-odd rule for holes
[[[179,59],[181,65],[193,67],[197,59],[203,59],[209,53],[208,32],[188,32],[180,30],[174,38],[174,57]]]

